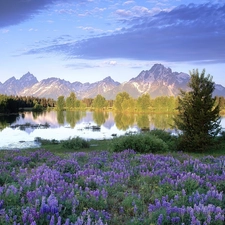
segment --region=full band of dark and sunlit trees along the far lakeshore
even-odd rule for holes
[[[216,97],[221,113],[225,113],[225,98]],[[51,98],[38,98],[32,96],[7,96],[0,95],[0,113],[17,113],[22,110],[32,109],[43,111],[48,108],[62,110],[116,110],[120,112],[137,113],[174,113],[178,106],[178,98],[173,96],[160,96],[151,98],[143,94],[137,99],[132,98],[127,92],[118,93],[114,100],[106,100],[102,95],[95,98],[77,99],[71,92],[68,97],[59,96],[57,100]]]

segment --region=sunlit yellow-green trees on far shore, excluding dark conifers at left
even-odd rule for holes
[[[225,98],[216,97],[216,104],[220,109],[225,109]],[[115,100],[106,100],[98,94],[95,98],[77,99],[76,94],[71,92],[68,97],[59,96],[56,101],[58,111],[74,109],[113,109],[119,112],[161,112],[174,113],[178,108],[178,97],[160,96],[151,98],[149,94],[143,94],[137,99],[132,98],[127,92],[120,92]]]

